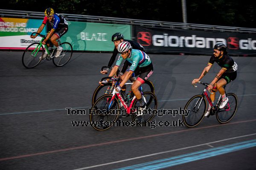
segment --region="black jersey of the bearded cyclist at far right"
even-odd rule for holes
[[[214,62],[217,62],[221,68],[226,69],[225,73],[232,73],[237,71],[237,64],[234,60],[227,54],[224,54],[221,58],[212,57],[210,58],[209,64],[213,65]]]

